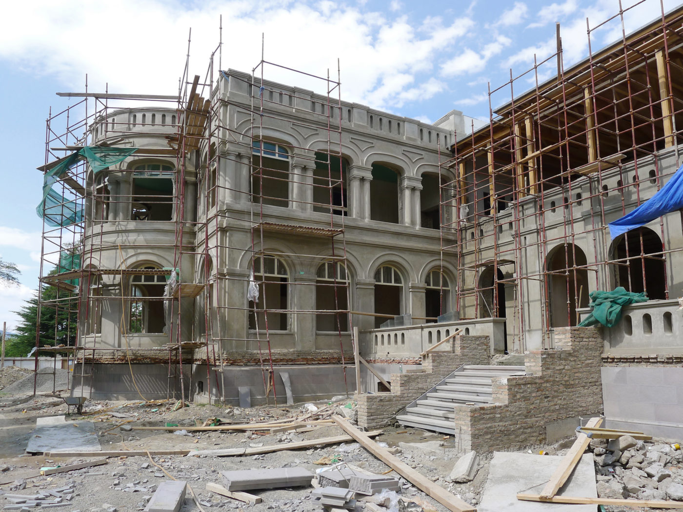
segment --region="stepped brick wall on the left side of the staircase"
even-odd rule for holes
[[[358,394],[358,424],[368,429],[388,425],[408,403],[460,366],[489,363],[488,336],[456,336],[450,345],[449,352],[426,354],[422,361],[422,372],[392,373],[391,393]]]

